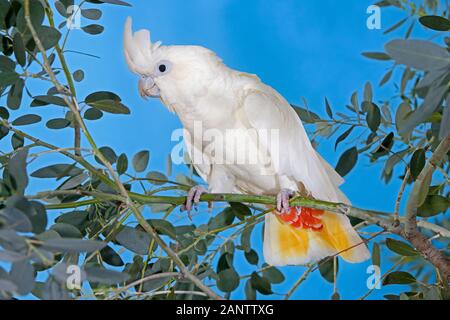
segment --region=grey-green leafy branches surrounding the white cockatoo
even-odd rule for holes
[[[127,5],[119,0],[86,0],[80,9],[82,16],[97,21],[103,3]],[[152,170],[148,150],[130,157],[117,154],[112,146],[97,147],[87,123],[126,116],[130,109],[113,92],[77,96],[75,84],[82,84],[85,72],[69,70],[65,57],[70,34],[65,18],[72,4],[71,0],[56,1],[52,6],[47,0],[0,0],[0,94],[6,101],[6,107],[0,107],[0,139],[2,143],[10,139],[11,145],[11,150],[2,151],[0,157],[0,261],[4,262],[0,266],[0,298],[28,294],[40,299],[84,296],[83,291],[67,287],[67,270],[74,264],[81,266],[85,286],[98,299],[219,298],[230,297],[238,288],[248,299],[272,294],[273,287],[285,277],[279,269],[264,264],[252,246],[254,227],[267,213],[256,204],[267,204],[268,198],[250,198],[255,205],[244,205],[241,202],[252,201],[230,197],[223,210],[206,223],[179,224],[171,214],[183,204],[184,197],[164,194],[185,195],[196,184],[195,175],[172,178],[170,163],[166,174]],[[346,106],[348,114],[333,112],[328,100],[326,119],[307,107],[294,108],[316,141],[337,135],[335,148],[345,149],[336,168],[341,175],[351,172],[367,157],[372,163],[384,165],[381,175],[386,183],[396,171],[407,184],[421,183],[418,215],[433,218],[436,224],[420,226],[427,236],[434,234],[436,246],[447,251],[448,237],[436,230],[442,228],[439,230],[448,233],[448,218],[443,214],[449,206],[448,154],[442,163],[434,164],[439,177],[419,177],[450,131],[450,41],[445,38],[443,44],[439,42],[443,32],[449,30],[449,12],[439,13],[437,1],[415,6],[409,1],[386,0],[379,5],[394,6],[409,14],[387,32],[411,21],[405,39],[388,42],[386,52],[363,53],[391,64],[380,85],[392,82],[393,97],[375,99],[372,85],[366,83],[362,98],[357,92],[351,96]],[[55,25],[54,15],[62,21],[59,25]],[[435,30],[437,40],[409,39],[417,21]],[[93,23],[82,30],[88,36],[97,36],[104,27]],[[395,80],[397,74],[399,83]],[[31,82],[41,87],[45,84],[48,89],[31,94]],[[19,113],[28,102],[33,113]],[[48,114],[43,112],[47,108],[64,110],[64,117],[47,119]],[[60,130],[66,135],[74,132],[73,147],[54,146],[22,131],[31,125],[43,126],[43,121],[48,130]],[[83,147],[82,135],[87,141]],[[30,162],[48,153],[58,153],[64,160],[29,172]],[[55,187],[27,193],[41,180],[51,181]],[[137,193],[140,188],[143,192]],[[328,205],[337,210],[338,206]],[[144,217],[148,210],[152,218]],[[50,216],[50,211],[57,213],[56,218]],[[154,214],[160,218],[154,218]],[[394,212],[391,218],[397,215]],[[368,223],[374,223],[373,219]],[[380,219],[384,221],[384,217]],[[386,298],[448,298],[444,275],[435,271],[411,244],[392,238],[375,243],[375,265],[382,263],[380,248],[393,253],[395,269],[383,276],[383,285],[411,286],[400,296]],[[249,274],[236,269],[239,254],[253,268]],[[335,283],[337,261],[325,259],[308,266],[285,297],[290,298],[315,270],[326,281]],[[333,298],[339,298],[336,290]]]

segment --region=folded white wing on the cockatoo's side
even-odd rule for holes
[[[246,89],[243,98],[246,122],[258,130],[278,130],[279,145],[266,144],[268,153],[278,157],[276,172],[302,183],[313,197],[333,202],[348,202],[339,190],[341,176],[316,152],[301,120],[289,103],[262,83]],[[265,137],[260,136],[260,143]]]

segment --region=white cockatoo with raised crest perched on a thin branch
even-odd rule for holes
[[[255,75],[228,68],[206,48],[152,43],[148,30],[133,34],[131,18],[125,24],[124,54],[140,76],[140,95],[160,98],[180,118],[188,155],[208,184],[207,191],[191,189],[188,210],[204,192],[277,195],[276,208],[265,217],[268,264],[302,265],[336,254],[349,262],[368,259],[347,216],[290,208],[295,194],[349,200],[339,190],[343,179],[314,150],[301,120],[278,92]],[[230,154],[249,154],[252,161]]]

